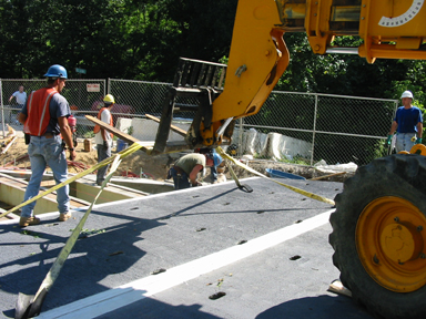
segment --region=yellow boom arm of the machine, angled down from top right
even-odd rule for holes
[[[234,120],[261,110],[290,62],[283,40],[285,32],[306,32],[316,54],[358,54],[369,63],[375,59],[426,60],[425,1],[241,0],[225,85],[221,92],[215,91],[214,84],[196,88],[216,94],[209,93],[211,110],[204,110],[193,122],[186,145],[190,148],[221,145],[231,140]],[[358,48],[332,45],[335,37],[344,35],[358,35],[363,44]],[[187,88],[187,83],[183,86]],[[159,128],[158,140],[160,130],[169,130],[168,125],[170,127],[170,123],[164,123]],[[164,143],[158,145],[156,151],[162,152],[163,146]]]

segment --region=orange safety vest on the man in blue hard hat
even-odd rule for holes
[[[27,103],[27,120],[23,132],[33,136],[42,136],[50,121],[49,104],[52,96],[57,94],[55,89],[40,89],[31,93]]]

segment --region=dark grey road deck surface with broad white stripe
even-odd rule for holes
[[[333,199],[342,183],[283,179]],[[328,292],[329,204],[263,178],[99,205],[39,318],[372,318]],[[84,210],[0,230],[0,305],[34,295]],[[156,274],[156,275],[154,275]]]

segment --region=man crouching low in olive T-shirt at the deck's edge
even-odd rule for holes
[[[184,189],[201,186],[196,181],[197,174],[205,166],[215,167],[222,163],[222,157],[217,153],[207,154],[187,154],[182,156],[169,169],[168,178],[173,177],[174,189]]]

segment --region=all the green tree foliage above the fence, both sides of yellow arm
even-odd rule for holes
[[[226,61],[237,0],[0,0],[0,78],[41,78],[48,65],[87,78],[171,82],[179,56]],[[247,34],[250,37],[250,34]],[[398,99],[425,105],[425,62],[315,55],[286,33],[291,63],[275,90]],[[357,37],[334,45],[358,47]]]

